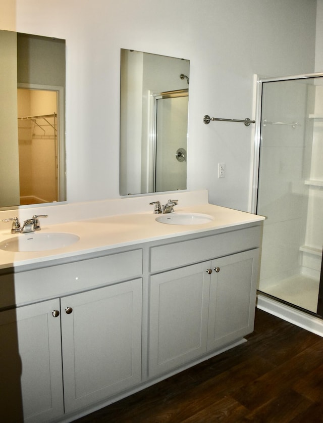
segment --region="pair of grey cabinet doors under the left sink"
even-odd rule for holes
[[[141,292],[138,278],[0,312],[1,416],[63,415],[62,358],[67,413],[139,384]]]

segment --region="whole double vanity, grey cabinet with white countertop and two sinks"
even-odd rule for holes
[[[6,421],[72,421],[253,331],[263,218],[207,192],[154,214],[169,196],[42,207],[32,233],[0,226]]]

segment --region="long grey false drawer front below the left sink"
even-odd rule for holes
[[[0,308],[113,284],[142,274],[142,249],[0,277]]]

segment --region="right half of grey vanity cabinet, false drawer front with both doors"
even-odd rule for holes
[[[152,248],[151,269],[158,270],[186,264],[201,254],[215,255],[219,244],[233,254],[150,276],[149,377],[253,331],[259,258],[259,232],[254,229],[236,231],[229,244],[216,235]],[[247,251],[236,253],[243,247]]]

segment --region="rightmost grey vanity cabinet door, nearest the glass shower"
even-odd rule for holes
[[[258,257],[254,249],[212,260],[208,351],[253,331]]]

